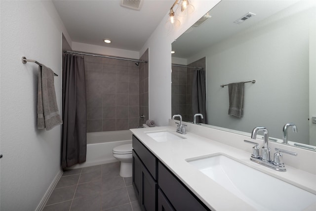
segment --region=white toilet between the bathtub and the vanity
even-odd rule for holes
[[[119,175],[121,177],[132,176],[132,144],[123,144],[114,147],[113,157],[120,161]]]

